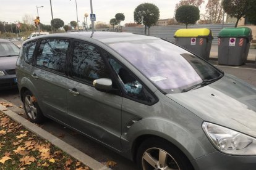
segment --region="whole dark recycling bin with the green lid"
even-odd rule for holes
[[[245,64],[251,41],[250,28],[223,28],[218,35],[218,63],[234,66]]]

